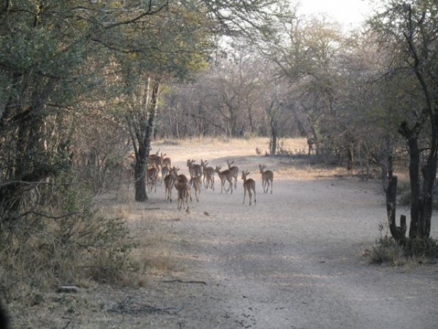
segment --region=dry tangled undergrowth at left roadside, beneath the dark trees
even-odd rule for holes
[[[88,188],[68,175],[51,192],[0,230],[0,293],[38,303],[56,285],[116,282],[135,264],[136,241],[125,222],[96,215]]]

